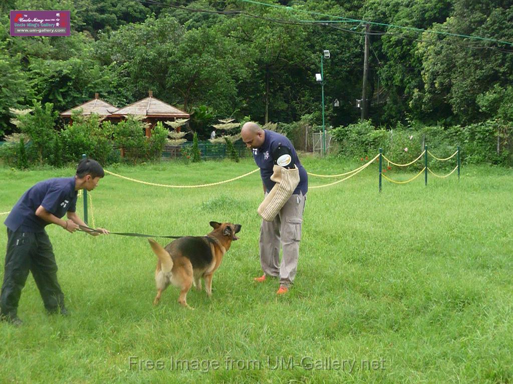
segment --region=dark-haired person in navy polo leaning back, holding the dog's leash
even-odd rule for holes
[[[71,233],[79,225],[87,226],[75,212],[77,191],[93,190],[104,175],[98,162],[83,159],[74,177],[41,181],[27,190],[14,205],[4,222],[7,226],[7,254],[0,293],[0,320],[14,325],[22,324],[17,316],[17,308],[29,271],[34,276],[46,310],[49,313],[60,311],[63,315],[68,314],[45,226],[56,224]],[[61,219],[65,214],[68,220]],[[103,228],[97,230],[99,232],[89,234],[97,236],[109,233]]]

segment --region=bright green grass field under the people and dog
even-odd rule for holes
[[[303,163],[319,174],[356,167],[338,159]],[[201,184],[254,168],[245,159],[110,170]],[[73,173],[0,168],[0,212],[35,182]],[[214,275],[213,298],[192,290],[187,301],[195,310],[183,309],[171,287],[153,307],[156,258],[145,239],[49,226],[72,314],[46,315],[29,276],[18,310],[23,327],[0,323],[0,381],[512,382],[512,176],[511,169],[471,166],[459,182],[456,174],[430,177],[427,187],[423,177],[384,181],[380,194],[373,165],[311,189],[295,284],[277,297],[276,280],[253,283],[261,274],[258,173],[196,189],[107,175],[91,194],[96,226],[200,236],[210,220],[242,224]],[[311,177],[310,186],[330,181]],[[6,240],[2,230],[2,266]]]

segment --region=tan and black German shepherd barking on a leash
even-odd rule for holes
[[[162,292],[172,284],[180,288],[178,302],[191,308],[187,304],[187,292],[193,284],[201,291],[201,278],[205,280],[208,296],[212,295],[212,275],[230,249],[232,240],[239,239],[235,233],[241,230],[241,225],[211,221],[210,226],[214,229],[207,236],[185,236],[172,241],[165,248],[148,239],[158,258],[155,269],[157,294],[153,305],[159,304]]]

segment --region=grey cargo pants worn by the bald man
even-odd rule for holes
[[[288,287],[298,268],[299,242],[306,195],[292,195],[273,221],[262,220],[260,228],[260,265],[268,276],[280,277]],[[283,249],[280,263],[280,246]]]

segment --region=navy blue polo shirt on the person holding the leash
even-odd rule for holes
[[[62,218],[66,212],[76,210],[76,197],[74,176],[40,181],[19,198],[4,224],[12,231],[21,227],[24,232],[43,232],[50,223],[35,216],[36,209],[42,205]]]

